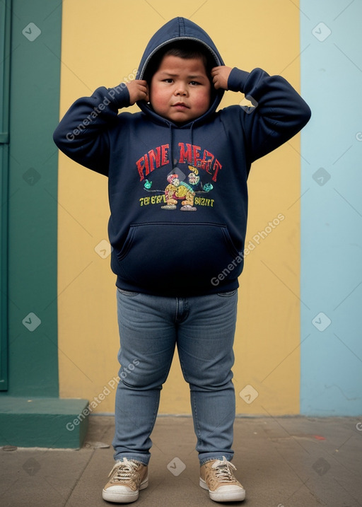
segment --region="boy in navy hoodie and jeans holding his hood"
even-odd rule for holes
[[[216,112],[223,92],[254,107]],[[118,110],[137,103],[141,112]],[[175,18],[153,35],[138,79],[76,100],[54,133],[74,161],[106,175],[120,350],[115,466],[103,499],[135,501],[148,485],[151,431],[177,344],[190,387],[199,484],[241,501],[232,383],[247,175],[310,110],[280,76],[223,64],[202,28]]]

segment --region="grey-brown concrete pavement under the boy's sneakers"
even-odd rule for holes
[[[113,465],[113,431],[112,416],[91,416],[80,450],[0,448],[0,506],[117,505],[102,499]],[[191,417],[158,417],[152,440],[149,486],[132,505],[218,505],[199,486]],[[234,450],[235,476],[247,496],[220,505],[362,506],[362,417],[240,417]]]

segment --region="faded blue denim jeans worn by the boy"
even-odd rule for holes
[[[148,464],[160,390],[176,344],[189,383],[200,465],[233,458],[231,367],[237,301],[237,291],[174,298],[117,289],[121,368],[112,442],[115,460]]]

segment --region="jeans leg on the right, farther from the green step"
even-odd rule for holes
[[[188,298],[177,330],[177,351],[189,383],[200,464],[233,458],[234,362],[238,292]]]

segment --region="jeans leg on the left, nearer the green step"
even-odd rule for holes
[[[117,289],[121,367],[112,441],[115,460],[148,464],[160,390],[175,351],[175,310],[171,306],[170,298]]]

